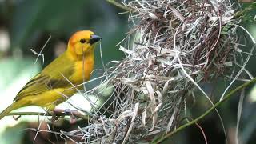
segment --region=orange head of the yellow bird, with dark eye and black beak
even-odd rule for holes
[[[82,30],[74,33],[69,40],[68,50],[75,57],[81,57],[82,54],[91,54],[94,51],[95,43],[101,38],[90,30]]]

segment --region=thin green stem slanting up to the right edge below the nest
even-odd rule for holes
[[[231,98],[231,96],[233,94],[235,94],[236,92],[238,92],[238,90],[242,90],[244,88],[246,88],[246,86],[250,86],[251,84],[256,82],[256,78],[252,79],[250,82],[246,82],[244,84],[242,84],[241,86],[238,86],[237,88],[235,88],[234,90],[231,90],[229,94],[226,94],[226,96],[222,99],[222,101],[217,102],[216,104],[214,104],[214,106],[210,107],[209,110],[206,110],[206,112],[204,114],[202,114],[201,116],[199,116],[198,118],[195,118],[193,121],[188,122],[180,127],[178,127],[178,129],[170,132],[169,134],[166,134],[165,136],[163,136],[160,139],[157,139],[156,142],[153,143],[160,143],[162,141],[164,141],[166,138],[169,138],[170,136],[178,133],[180,130],[185,129],[188,126],[192,126],[194,125],[194,123],[200,121],[202,118],[204,118],[206,115],[210,114],[212,111],[214,111],[218,106],[220,106],[223,102],[225,102],[227,99]]]

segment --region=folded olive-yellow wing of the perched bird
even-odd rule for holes
[[[57,59],[46,66],[41,73],[30,79],[30,82],[27,82],[22,90],[18,92],[14,101],[18,101],[26,96],[42,94],[47,90],[71,87],[67,79],[73,74],[74,66],[69,62],[62,62],[63,58]]]

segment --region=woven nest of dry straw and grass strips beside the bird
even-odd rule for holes
[[[114,92],[89,126],[68,132],[84,142],[151,141],[177,128],[186,98],[209,82],[234,72],[241,50],[237,20],[228,0],[134,0],[130,32],[121,42],[126,54],[106,71]],[[125,44],[126,45],[125,45]],[[108,107],[107,107],[108,106]],[[182,117],[183,115],[183,117]]]

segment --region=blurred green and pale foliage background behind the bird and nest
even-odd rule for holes
[[[0,0],[0,110],[9,106],[15,94],[26,82],[37,74],[66,48],[66,42],[70,35],[78,30],[92,30],[102,37],[101,47],[104,63],[111,60],[120,60],[123,54],[115,45],[125,38],[128,31],[127,14],[106,1],[78,0]],[[256,38],[256,24],[254,21],[243,22],[251,34]],[[244,33],[241,33],[244,34]],[[50,38],[51,36],[51,38]],[[50,38],[45,49],[44,62],[39,57],[34,64],[36,52],[42,50],[42,46]],[[243,47],[243,49],[249,49]],[[101,68],[99,45],[96,50],[96,68]],[[254,53],[255,54],[255,53]],[[252,56],[246,68],[254,76],[256,75],[255,56]],[[95,73],[93,77],[101,75]],[[238,82],[239,83],[239,82]],[[240,82],[241,83],[241,82]],[[97,82],[90,83],[96,86]],[[90,87],[89,86],[89,87]],[[204,84],[206,91],[214,91],[212,99],[218,101],[227,82]],[[254,143],[256,141],[256,89],[246,89],[246,98],[242,107],[242,118],[239,127],[239,138],[242,143]],[[238,97],[231,98],[218,108],[230,143],[235,143],[235,126],[237,122]],[[209,103],[203,97],[197,97],[197,102],[190,106],[191,118],[196,118],[209,108]],[[36,107],[29,107],[26,111],[40,111]],[[41,110],[42,111],[42,110]],[[85,122],[70,125],[66,120],[58,122],[54,126],[56,131],[70,131],[78,126],[84,126]],[[221,123],[217,114],[210,114],[202,122],[202,126],[209,143],[225,143]],[[14,118],[3,118],[0,121],[0,143],[33,143],[36,132],[27,128],[36,129],[38,117],[26,116],[14,121]],[[50,125],[50,128],[53,126]],[[46,122],[42,122],[41,130],[48,130]],[[79,141],[79,140],[78,140]],[[62,138],[55,138],[54,134],[40,133],[35,143],[64,143]],[[67,143],[73,143],[67,141]],[[202,133],[197,126],[192,126],[174,135],[170,142],[166,143],[205,143]]]

